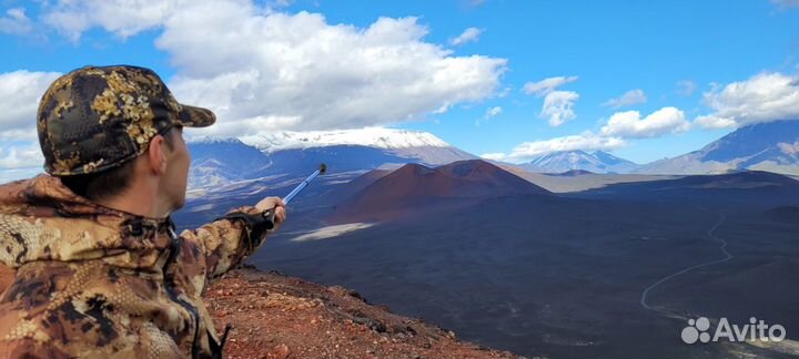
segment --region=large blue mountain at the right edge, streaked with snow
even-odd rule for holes
[[[758,170],[799,175],[799,121],[740,127],[699,151],[641,166],[645,174],[709,174]]]

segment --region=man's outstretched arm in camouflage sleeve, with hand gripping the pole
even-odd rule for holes
[[[264,227],[264,211],[275,211],[275,227]],[[183,230],[181,237],[198,244],[205,256],[206,274],[215,278],[241,264],[257,249],[285,220],[285,205],[277,197],[259,202],[255,207],[245,206],[227,213],[224,217],[194,230]]]

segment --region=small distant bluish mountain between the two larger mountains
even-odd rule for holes
[[[635,171],[638,164],[604,151],[593,153],[564,151],[539,156],[519,166],[529,172],[538,173],[563,173],[575,170],[593,173],[629,173]]]

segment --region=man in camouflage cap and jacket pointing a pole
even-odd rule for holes
[[[213,124],[151,70],[58,79],[37,127],[49,175],[0,186],[0,358],[218,358],[201,295],[263,242],[280,198],[174,233],[190,156],[183,127]],[[274,229],[273,229],[274,230]]]

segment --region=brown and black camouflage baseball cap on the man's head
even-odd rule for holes
[[[214,121],[210,110],[179,104],[152,70],[87,66],[50,85],[37,130],[44,171],[69,176],[122,165],[174,125],[204,127]]]

